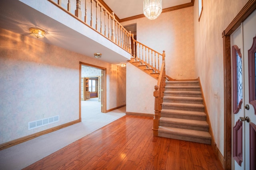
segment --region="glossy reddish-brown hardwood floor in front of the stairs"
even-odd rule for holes
[[[210,145],[154,137],[152,119],[125,115],[24,169],[223,169]]]

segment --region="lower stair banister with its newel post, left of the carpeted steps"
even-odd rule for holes
[[[158,78],[157,85],[154,87],[154,97],[155,97],[155,112],[154,112],[154,120],[153,120],[153,135],[158,136],[158,127],[159,127],[159,119],[161,117],[162,103],[164,98],[164,90],[165,90],[165,51],[162,54],[162,66],[160,70],[160,75]]]

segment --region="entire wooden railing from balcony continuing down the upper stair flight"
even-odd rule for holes
[[[136,41],[131,31],[116,20],[114,12],[110,13],[99,0],[48,1],[130,53],[131,58],[147,65],[155,73],[160,72],[162,53]]]

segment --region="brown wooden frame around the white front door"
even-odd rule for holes
[[[256,10],[256,0],[249,0],[234,20],[222,32],[223,38],[223,65],[224,65],[224,169],[231,170],[231,48],[230,35],[246,20],[246,18]]]

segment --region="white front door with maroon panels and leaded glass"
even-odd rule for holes
[[[232,169],[255,170],[256,11],[230,35],[232,61]]]

